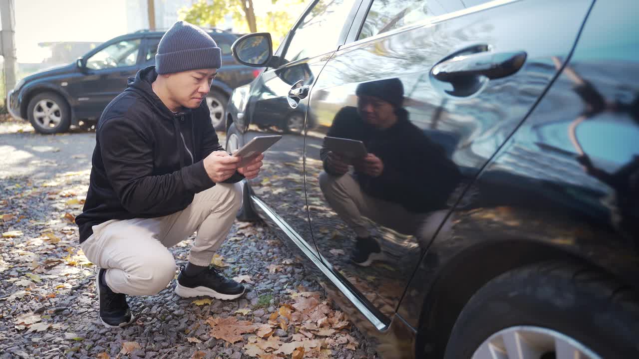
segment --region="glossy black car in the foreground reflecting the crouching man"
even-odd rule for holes
[[[228,151],[272,113],[317,123],[268,150],[238,218],[384,358],[639,358],[637,13],[312,1],[275,54],[266,33],[233,45],[266,70],[231,96]]]

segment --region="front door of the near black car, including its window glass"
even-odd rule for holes
[[[265,124],[275,125],[275,121],[286,121],[291,116],[305,118],[307,94],[330,56],[343,43],[350,27],[346,19],[351,13],[354,15],[354,4],[358,2],[318,0],[309,4],[276,52],[281,65],[267,68],[250,86],[246,110],[235,121],[243,143],[267,131],[281,133],[281,129],[266,128]],[[289,96],[292,89],[298,94],[295,100]],[[304,136],[284,133],[265,155],[260,176],[250,181],[250,188],[259,197],[258,204],[276,212],[291,228],[289,235],[305,241],[314,252],[304,195]]]

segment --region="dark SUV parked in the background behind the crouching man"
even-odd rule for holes
[[[206,96],[211,121],[224,129],[224,112],[231,91],[249,83],[259,70],[241,65],[231,55],[238,34],[207,32],[222,49],[222,68]],[[28,119],[43,134],[65,132],[70,125],[95,123],[102,110],[127,87],[128,77],[155,64],[164,31],[137,31],[109,40],[70,65],[29,75],[10,91],[7,107],[14,118]]]

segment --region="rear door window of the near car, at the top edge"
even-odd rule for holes
[[[357,40],[489,0],[373,0]]]

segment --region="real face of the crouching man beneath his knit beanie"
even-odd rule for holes
[[[216,73],[215,68],[204,68],[169,74],[167,88],[172,100],[187,109],[197,109],[208,94]]]

